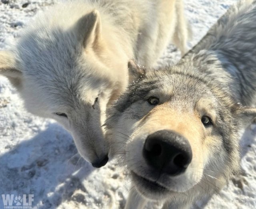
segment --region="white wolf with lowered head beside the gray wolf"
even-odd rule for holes
[[[154,65],[170,41],[184,53],[187,35],[181,0],[62,2],[0,51],[0,74],[28,111],[60,122],[100,167],[108,161],[106,106],[128,85],[128,60]]]

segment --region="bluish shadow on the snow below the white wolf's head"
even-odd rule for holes
[[[34,194],[32,207],[56,208],[62,201],[76,201],[72,195],[77,189],[86,193],[81,180],[93,170],[80,158],[70,134],[56,123],[49,124],[0,155],[0,194]]]

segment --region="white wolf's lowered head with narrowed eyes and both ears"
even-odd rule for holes
[[[0,74],[17,88],[28,111],[60,122],[84,159],[104,166],[108,144],[102,122],[107,104],[125,86],[116,82],[115,70],[126,72],[127,63],[106,47],[98,11],[72,20],[75,24],[44,18],[14,49],[0,52]]]

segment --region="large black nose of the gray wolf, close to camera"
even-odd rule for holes
[[[158,172],[179,175],[190,164],[192,150],[183,136],[169,130],[160,130],[146,138],[143,156],[148,165]]]

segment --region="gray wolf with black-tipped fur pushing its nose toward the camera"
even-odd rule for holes
[[[255,32],[256,1],[241,0],[177,65],[138,69],[108,110],[110,153],[132,179],[126,209],[190,208],[240,174],[240,134],[256,116]]]

